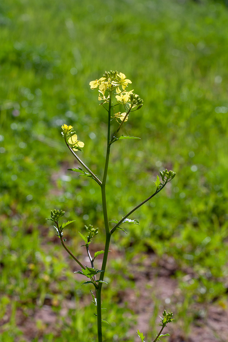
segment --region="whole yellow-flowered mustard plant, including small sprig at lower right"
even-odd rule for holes
[[[105,320],[102,319],[102,285],[104,281],[104,275],[106,271],[106,264],[108,259],[108,252],[109,252],[109,245],[110,239],[114,232],[117,229],[121,229],[124,231],[122,225],[125,223],[132,223],[132,224],[139,224],[138,219],[131,220],[129,216],[140,208],[144,203],[149,201],[152,197],[156,196],[165,186],[169,183],[176,175],[173,171],[168,171],[167,169],[163,172],[160,171],[161,180],[159,175],[157,175],[155,183],[155,192],[151,194],[148,198],[146,198],[143,202],[139,203],[134,209],[129,211],[124,217],[122,217],[119,221],[118,220],[110,220],[108,219],[108,212],[107,212],[107,203],[106,203],[106,180],[108,174],[108,164],[109,164],[109,156],[110,156],[110,148],[113,143],[117,140],[123,139],[140,139],[134,136],[124,136],[123,134],[119,136],[119,131],[122,128],[124,122],[126,122],[132,113],[135,110],[139,110],[143,106],[143,100],[139,97],[139,95],[135,94],[134,90],[126,90],[129,84],[132,82],[126,78],[126,76],[122,73],[118,73],[117,71],[110,71],[105,72],[103,77],[99,78],[98,80],[90,82],[90,88],[93,90],[98,90],[98,100],[100,101],[100,105],[104,107],[107,111],[107,150],[106,150],[106,159],[105,159],[105,166],[104,166],[104,173],[103,178],[100,180],[97,175],[95,175],[88,166],[84,164],[84,162],[79,158],[76,152],[81,152],[82,148],[84,147],[84,143],[78,140],[78,136],[76,132],[73,130],[72,126],[67,126],[64,124],[62,126],[62,135],[65,140],[67,147],[69,148],[72,155],[77,159],[77,161],[81,164],[82,168],[71,168],[68,170],[79,172],[80,176],[91,177],[100,187],[101,195],[102,195],[102,206],[103,206],[103,215],[104,215],[104,226],[105,226],[105,247],[104,250],[97,251],[94,253],[92,257],[89,251],[89,246],[92,242],[93,237],[98,233],[98,228],[94,228],[92,225],[88,227],[85,226],[86,235],[80,236],[84,240],[84,245],[86,251],[88,253],[88,257],[90,260],[90,265],[83,265],[78,258],[75,257],[71,253],[71,251],[66,247],[65,241],[66,239],[63,238],[63,229],[68,224],[72,223],[73,221],[64,222],[62,225],[59,225],[59,219],[62,218],[64,215],[64,211],[62,210],[53,210],[51,211],[51,220],[55,223],[56,235],[59,237],[61,244],[65,248],[65,250],[70,254],[70,256],[79,264],[81,270],[75,272],[84,275],[89,280],[83,282],[82,285],[85,284],[92,284],[94,286],[95,294],[91,291],[93,303],[96,307],[95,316],[97,316],[97,337],[98,342],[102,342],[102,322]],[[115,101],[115,104],[114,104]],[[115,113],[115,106],[116,105],[122,106],[122,111]],[[111,120],[113,120],[116,124],[116,131],[111,134]],[[114,226],[110,228],[110,223],[113,223]],[[124,231],[125,232],[125,231]],[[101,269],[97,269],[94,266],[94,260],[99,254],[103,255],[102,267]],[[107,283],[106,283],[107,284]],[[104,309],[105,310],[105,309]],[[172,313],[166,314],[163,312],[162,320],[162,329],[159,332],[158,336],[155,338],[154,341],[159,340],[159,337],[166,336],[162,335],[161,332],[166,326],[167,323],[171,322]],[[106,322],[106,321],[105,321]],[[107,322],[106,322],[107,323]],[[143,333],[138,331],[138,336],[144,342]]]

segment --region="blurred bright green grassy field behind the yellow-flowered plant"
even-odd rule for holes
[[[65,234],[82,259],[78,231],[85,224],[99,227],[94,242],[103,249],[99,188],[67,171],[76,163],[61,125],[75,127],[85,143],[82,159],[101,177],[107,117],[89,82],[110,69],[130,78],[144,100],[121,133],[141,140],[112,145],[110,219],[148,197],[159,170],[177,175],[132,215],[140,226],[113,234],[105,341],[135,339],[129,331],[137,330],[137,310],[119,297],[120,290],[137,292],[136,255],[139,269],[148,255],[151,269],[169,258],[175,263],[168,277],[177,282],[179,299],[158,303],[151,291],[151,322],[156,307],[160,315],[171,308],[187,339],[208,305],[226,310],[227,21],[227,8],[213,1],[0,3],[1,342],[94,341],[90,285],[81,286],[72,272],[77,266],[45,218],[56,208],[75,220]],[[42,319],[48,310],[56,320]]]

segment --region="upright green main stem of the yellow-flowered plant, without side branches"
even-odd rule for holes
[[[104,175],[101,185],[101,194],[102,194],[102,206],[103,206],[103,215],[104,215],[104,222],[105,222],[105,233],[106,233],[106,239],[105,239],[105,252],[102,262],[102,271],[105,271],[107,259],[108,259],[108,250],[109,250],[109,244],[110,244],[110,238],[111,234],[109,231],[109,224],[108,224],[108,213],[107,213],[107,204],[106,204],[106,192],[105,192],[105,186],[106,186],[106,180],[107,180],[107,173],[108,173],[108,162],[109,162],[109,155],[110,155],[110,130],[111,130],[111,102],[112,102],[112,93],[110,93],[109,97],[109,106],[108,106],[108,134],[107,134],[107,151],[106,151],[106,159],[105,159],[105,169],[104,169]],[[100,280],[104,279],[104,273],[100,272]],[[102,282],[98,283],[99,289],[96,290],[96,296],[97,296],[97,336],[98,336],[98,342],[102,342],[102,315],[101,315],[101,291],[102,291]]]

